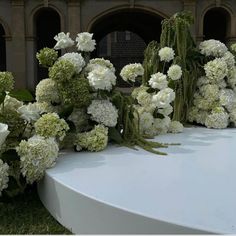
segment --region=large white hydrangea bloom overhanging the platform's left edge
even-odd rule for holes
[[[28,141],[21,141],[16,150],[20,156],[21,173],[32,184],[44,176],[46,169],[55,165],[59,148],[54,138],[35,135]]]

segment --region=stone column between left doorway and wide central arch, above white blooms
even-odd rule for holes
[[[73,39],[81,31],[80,0],[68,0],[68,31]]]

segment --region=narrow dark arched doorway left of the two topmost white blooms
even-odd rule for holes
[[[35,15],[36,51],[44,47],[53,48],[54,36],[61,31],[60,15],[51,8],[42,8]],[[45,68],[37,66],[37,81],[48,76]]]

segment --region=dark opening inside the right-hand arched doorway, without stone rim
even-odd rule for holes
[[[217,39],[227,43],[230,26],[230,14],[224,8],[216,7],[208,10],[203,22],[204,40]]]

